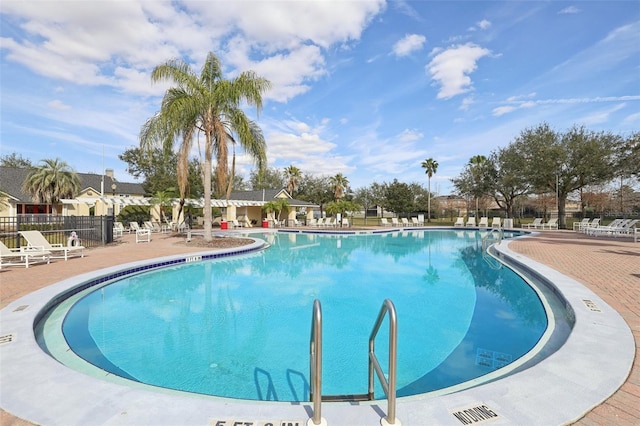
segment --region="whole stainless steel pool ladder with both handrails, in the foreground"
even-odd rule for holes
[[[378,357],[375,354],[375,339],[386,315],[389,315],[389,379],[384,375]],[[387,396],[387,416],[380,420],[380,424],[400,425],[396,419],[396,360],[397,360],[398,324],[396,308],[393,302],[385,299],[380,308],[371,335],[369,336],[369,389],[366,394],[355,395],[322,395],[322,308],[318,299],[313,302],[311,317],[311,338],[309,342],[309,399],[313,402],[313,417],[307,426],[326,425],[322,418],[322,401],[372,401],[374,399],[375,371],[382,389]]]

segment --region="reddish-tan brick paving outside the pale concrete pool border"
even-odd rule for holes
[[[629,239],[586,237],[570,231],[546,231],[535,237],[513,241],[510,248],[584,283],[617,310],[633,332],[636,356],[627,382],[577,424],[640,424],[640,361],[637,350],[640,342],[640,243]],[[136,244],[132,236],[125,235],[118,244],[87,250],[84,259],[58,260],[29,269],[3,269],[0,270],[0,309],[35,290],[84,272],[201,250],[169,235],[154,234],[151,243],[141,244]],[[0,424],[31,425],[3,410],[0,411]]]

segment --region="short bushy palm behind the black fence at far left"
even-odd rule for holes
[[[57,204],[62,198],[73,198],[80,192],[80,178],[64,161],[42,160],[22,184],[22,190],[38,203],[51,204],[53,214],[58,214]]]

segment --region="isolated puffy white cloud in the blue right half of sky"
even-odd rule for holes
[[[469,74],[476,70],[478,60],[490,53],[488,49],[473,43],[454,46],[437,53],[427,64],[426,70],[440,85],[438,99],[449,99],[469,92],[472,85]]]

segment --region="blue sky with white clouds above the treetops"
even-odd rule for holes
[[[452,190],[469,159],[549,123],[640,129],[640,2],[34,1],[0,9],[0,154],[115,170],[159,109],[150,72],[210,51],[272,82],[270,167]],[[239,153],[240,173],[252,165]]]

